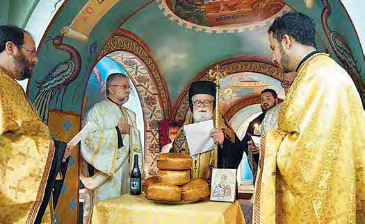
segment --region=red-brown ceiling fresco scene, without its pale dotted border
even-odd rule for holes
[[[246,25],[272,17],[281,0],[165,0],[181,19],[200,26]]]

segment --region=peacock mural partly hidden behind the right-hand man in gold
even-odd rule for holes
[[[331,15],[331,6],[328,3],[328,0],[321,0],[325,8],[323,8],[321,19],[323,29],[325,30],[325,34],[330,41],[332,49],[334,53],[336,53],[337,58],[343,64],[343,68],[346,69],[350,77],[355,83],[357,91],[359,91],[360,97],[362,98],[362,105],[365,107],[365,90],[364,85],[362,84],[361,72],[357,68],[357,60],[354,55],[352,55],[352,51],[346,38],[341,35],[341,33],[337,31],[332,31],[330,26],[328,26],[327,19]]]

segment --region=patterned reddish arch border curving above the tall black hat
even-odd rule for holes
[[[277,80],[282,80],[281,70],[273,62],[271,62],[266,58],[241,56],[236,58],[228,58],[220,62],[216,62],[215,64],[212,64],[209,67],[206,67],[205,69],[200,71],[194,78],[190,80],[188,84],[186,84],[184,89],[181,91],[179,97],[177,98],[172,117],[174,117],[177,120],[185,119],[189,108],[188,88],[190,87],[190,84],[197,80],[213,81],[212,78],[209,78],[208,72],[209,69],[213,69],[214,67],[216,67],[216,65],[218,65],[221,69],[224,69],[227,72],[227,76],[239,72],[256,72],[259,74],[276,78]],[[236,102],[234,104],[236,104]],[[233,110],[231,109],[232,106],[233,105],[228,106],[228,108],[230,108],[229,110]],[[227,114],[227,112],[225,112],[225,114]],[[232,115],[227,114],[227,115],[231,117],[233,116],[233,114]]]

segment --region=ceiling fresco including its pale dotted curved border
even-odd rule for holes
[[[159,8],[180,26],[209,33],[250,30],[291,10],[281,0],[160,0]]]

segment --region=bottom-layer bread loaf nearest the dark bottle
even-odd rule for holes
[[[181,200],[181,188],[174,184],[152,184],[148,187],[146,197],[154,200],[179,201]]]

